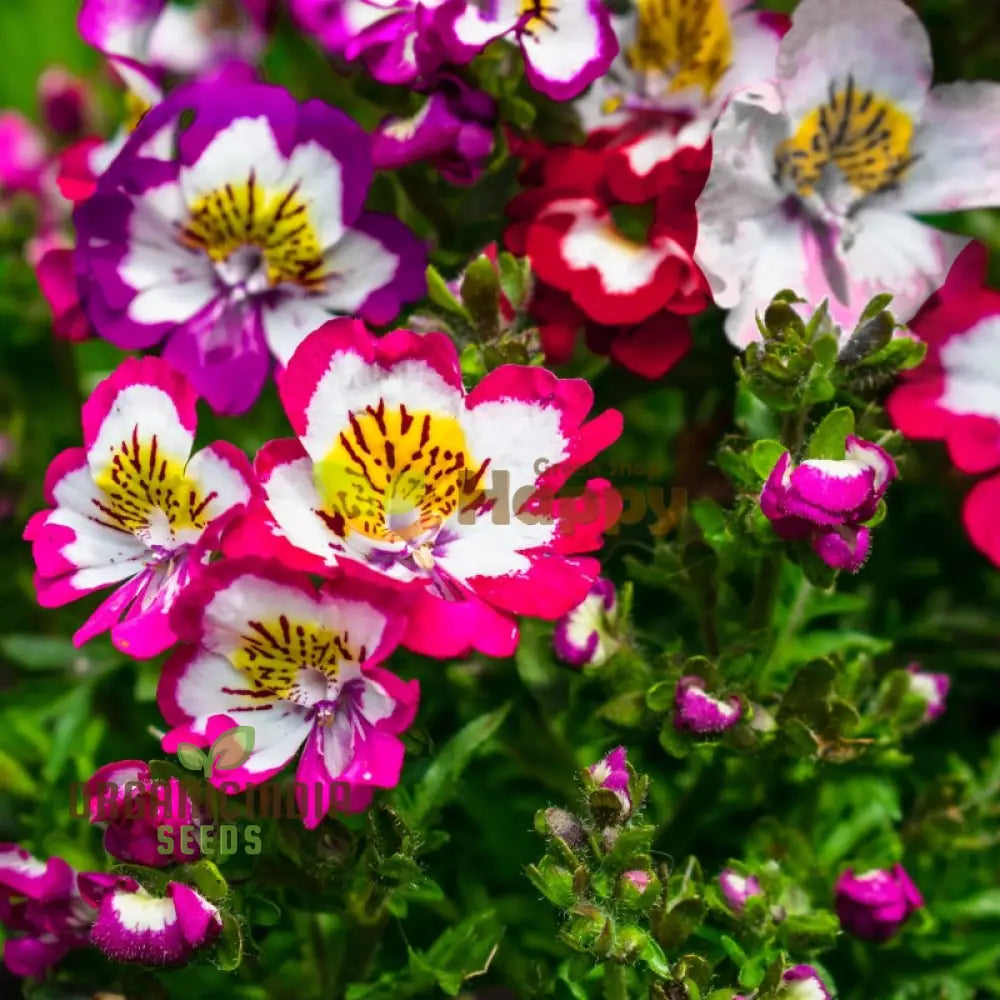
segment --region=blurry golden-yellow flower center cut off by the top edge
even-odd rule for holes
[[[708,97],[732,64],[725,0],[636,0],[639,22],[626,53],[636,73],[667,93],[700,87]]]

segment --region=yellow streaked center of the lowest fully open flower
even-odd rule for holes
[[[286,615],[248,621],[247,626],[231,659],[250,682],[239,693],[251,697],[322,700],[326,682],[337,679],[343,661],[361,663],[368,655],[364,646],[353,648],[347,630],[335,632],[312,622],[290,621]],[[312,698],[301,697],[310,682],[318,690]]]

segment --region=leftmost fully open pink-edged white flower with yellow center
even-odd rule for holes
[[[166,362],[129,358],[84,404],[84,447],[49,466],[51,509],[24,530],[39,603],[116,586],[73,637],[78,646],[108,629],[135,657],[170,646],[171,606],[250,499],[237,448],[220,441],[191,455],[196,398]]]

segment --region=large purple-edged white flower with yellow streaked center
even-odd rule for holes
[[[166,338],[213,409],[245,411],[268,350],[285,364],[332,314],[386,323],[423,293],[422,245],[362,212],[371,176],[364,133],[319,101],[254,84],[174,91],[76,208],[94,329],[126,349]]]

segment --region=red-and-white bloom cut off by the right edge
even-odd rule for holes
[[[886,407],[909,438],[943,440],[963,472],[1000,466],[1000,292],[987,287],[987,251],[970,243],[948,280],[910,321],[927,356]],[[977,483],[963,518],[973,544],[1000,565],[1000,475]]]

